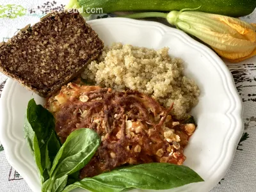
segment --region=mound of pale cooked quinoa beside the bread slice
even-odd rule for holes
[[[105,47],[82,77],[102,87],[138,90],[166,108],[174,103],[172,115],[186,118],[188,111],[198,103],[200,90],[193,79],[184,76],[182,60],[170,57],[168,51],[168,47],[155,51],[115,43]]]

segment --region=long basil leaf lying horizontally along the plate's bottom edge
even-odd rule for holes
[[[192,182],[204,181],[187,166],[170,163],[148,163],[118,168],[92,178],[84,178],[67,186],[63,192],[75,188],[93,192],[118,192],[124,189],[172,189]]]

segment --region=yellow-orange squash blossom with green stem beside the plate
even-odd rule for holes
[[[256,24],[223,15],[187,10],[135,13],[124,17],[164,17],[170,24],[196,36],[221,57],[233,63],[256,55]]]

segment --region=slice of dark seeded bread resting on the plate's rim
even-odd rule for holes
[[[52,12],[0,45],[0,71],[41,97],[76,77],[104,48],[79,13]]]

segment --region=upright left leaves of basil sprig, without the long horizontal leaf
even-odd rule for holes
[[[73,131],[61,146],[54,128],[52,114],[31,99],[24,131],[40,173],[42,192],[63,191],[67,186],[68,175],[81,170],[100,145],[97,132],[83,128]]]

